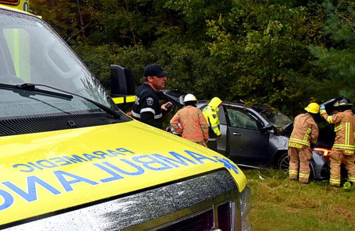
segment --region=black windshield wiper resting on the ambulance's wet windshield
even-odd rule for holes
[[[62,93],[58,93],[58,92],[55,92],[55,91],[47,91],[47,90],[42,90],[42,89],[39,89],[39,88],[36,88],[36,86],[42,86],[42,87],[47,87],[47,88],[51,88],[51,89],[54,89],[54,90],[57,90],[57,91],[62,91],[64,93],[67,93],[67,94],[62,94]],[[48,95],[55,95],[56,97],[61,97],[61,98],[66,98],[66,99],[73,99],[73,95],[75,95],[76,97],[79,97],[79,98],[82,98],[92,104],[95,104],[98,108],[102,109],[103,111],[111,114],[114,118],[116,119],[120,119],[121,118],[121,115],[118,114],[115,110],[113,110],[112,108],[110,107],[107,107],[103,104],[100,104],[94,100],[91,100],[91,99],[88,99],[86,97],[83,97],[81,96],[80,94],[76,94],[76,93],[73,93],[73,92],[69,92],[69,91],[65,91],[65,90],[62,90],[62,89],[59,89],[59,88],[55,88],[55,87],[51,87],[51,86],[48,86],[48,85],[45,85],[45,84],[32,84],[32,83],[25,83],[25,84],[17,84],[17,85],[11,85],[11,84],[3,84],[3,83],[0,83],[0,87],[6,87],[6,88],[12,88],[13,92],[15,93],[19,93],[20,95],[24,95],[23,92],[19,92],[19,90],[26,90],[26,91],[32,91],[32,92],[38,92],[40,94],[48,94]]]

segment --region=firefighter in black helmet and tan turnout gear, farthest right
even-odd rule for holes
[[[345,159],[345,168],[348,171],[348,181],[355,182],[354,164],[354,132],[355,115],[351,111],[352,104],[348,99],[339,101],[339,113],[328,115],[325,106],[321,107],[321,115],[328,124],[334,124],[335,140],[330,152],[330,179],[329,184],[340,187],[340,164]]]

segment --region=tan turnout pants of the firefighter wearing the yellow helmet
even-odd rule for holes
[[[309,162],[312,159],[312,150],[309,146],[303,145],[303,148],[289,147],[288,155],[290,157],[289,176],[291,179],[301,183],[308,183],[311,169]],[[299,168],[299,172],[298,172]]]

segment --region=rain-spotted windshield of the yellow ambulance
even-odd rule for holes
[[[115,108],[75,53],[36,16],[0,10],[0,63],[2,84],[45,84]],[[0,118],[101,111],[79,97],[67,99],[6,87],[0,87],[0,98]]]

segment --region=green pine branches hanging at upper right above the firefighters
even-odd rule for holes
[[[343,95],[355,100],[355,3],[324,1],[323,25],[328,42],[311,45],[311,67],[299,81],[321,102]]]

